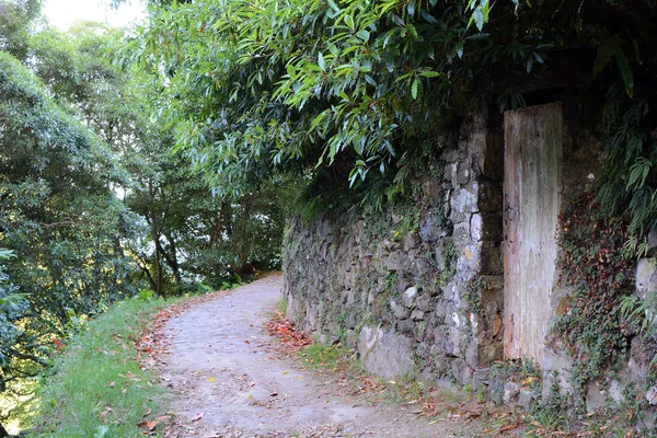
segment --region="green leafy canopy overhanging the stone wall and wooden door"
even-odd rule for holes
[[[153,3],[122,59],[162,77],[160,119],[218,193],[274,168],[341,183],[333,195],[347,181],[390,188],[474,107],[515,108],[527,90],[568,83],[591,96],[581,107],[606,107],[583,117],[608,140],[603,205],[626,209],[633,232],[657,223],[650,2]]]

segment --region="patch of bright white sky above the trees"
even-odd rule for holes
[[[108,4],[110,0],[45,0],[44,12],[50,24],[62,31],[80,20],[122,27],[146,15],[140,0],[126,0],[118,10],[110,9]]]

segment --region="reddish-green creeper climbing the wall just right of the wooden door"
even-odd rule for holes
[[[592,195],[567,200],[561,222],[560,281],[573,291],[553,332],[575,359],[572,381],[581,391],[627,347],[621,300],[633,287],[632,262],[623,252],[626,223],[604,215]]]

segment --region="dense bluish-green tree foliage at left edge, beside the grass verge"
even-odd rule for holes
[[[135,265],[120,247],[130,235],[130,214],[111,188],[125,173],[105,145],[5,53],[0,125],[0,245],[18,255],[4,264],[26,298],[19,310],[3,311],[8,327],[21,328],[2,345],[4,390],[16,376],[48,364],[51,339],[66,337],[73,315],[131,293]]]

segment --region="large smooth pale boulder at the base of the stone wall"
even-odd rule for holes
[[[384,379],[413,371],[413,345],[406,336],[366,325],[358,338],[358,353],[365,368]]]

